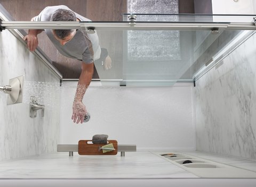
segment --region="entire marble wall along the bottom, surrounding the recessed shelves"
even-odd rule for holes
[[[125,157],[80,156],[55,152],[0,163],[0,186],[209,186],[254,187],[256,179],[201,179],[160,154],[172,151],[126,152]],[[177,152],[178,153],[178,152]],[[180,153],[256,171],[256,162],[198,151]],[[85,185],[86,184],[86,185]]]

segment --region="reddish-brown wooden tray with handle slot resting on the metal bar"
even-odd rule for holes
[[[113,146],[116,150],[108,151],[103,153],[102,150],[99,150],[99,146],[105,146],[109,143],[113,143]],[[108,140],[107,144],[102,143],[92,143],[92,140],[79,140],[78,141],[78,154],[79,155],[116,155],[117,154],[117,141]]]

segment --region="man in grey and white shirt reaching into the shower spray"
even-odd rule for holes
[[[47,6],[31,21],[91,21],[83,16],[71,11],[65,5]],[[28,35],[24,37],[27,47],[33,52],[38,46],[37,35],[42,31],[50,38],[59,52],[67,57],[82,61],[82,72],[77,84],[76,95],[73,103],[73,115],[71,119],[74,123],[83,123],[86,114],[86,107],[82,100],[93,75],[93,63],[95,60],[107,61],[105,68],[111,68],[111,59],[104,49],[101,52],[97,32],[87,34],[82,30],[75,29],[30,29]]]

